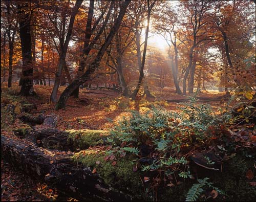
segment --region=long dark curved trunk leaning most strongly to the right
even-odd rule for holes
[[[117,30],[120,27],[122,18],[125,14],[126,8],[129,5],[129,3],[131,2],[131,0],[126,0],[125,2],[122,3],[120,11],[119,11],[119,15],[117,17],[117,19],[114,22],[114,26],[111,28],[110,33],[108,35],[108,37],[106,38],[104,44],[102,45],[102,47],[100,48],[97,57],[95,58],[95,60],[92,62],[92,64],[89,66],[89,68],[87,69],[87,71],[82,74],[79,78],[76,78],[66,89],[65,91],[63,91],[63,93],[61,94],[59,101],[56,105],[56,109],[61,109],[64,108],[66,105],[66,102],[69,98],[69,96],[71,95],[71,93],[73,93],[73,91],[79,87],[79,85],[85,83],[86,81],[90,80],[90,76],[95,72],[95,69],[97,68],[97,66],[99,65],[105,50],[109,47],[115,33],[117,32]]]

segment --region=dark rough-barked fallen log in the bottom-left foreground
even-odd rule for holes
[[[75,197],[92,200],[131,200],[130,195],[114,190],[103,183],[91,169],[74,163],[72,152],[58,152],[36,146],[29,140],[1,137],[2,156],[13,166],[22,169],[60,191]]]

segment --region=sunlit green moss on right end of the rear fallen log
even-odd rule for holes
[[[87,149],[90,146],[103,144],[103,139],[109,136],[109,132],[105,130],[67,130],[69,132],[69,140],[73,140],[74,146],[80,149]]]

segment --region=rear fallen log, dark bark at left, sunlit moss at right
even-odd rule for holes
[[[18,128],[13,130],[15,136],[32,140],[37,146],[47,149],[74,151],[87,149],[90,146],[103,145],[108,131],[104,130],[58,130],[56,128],[34,126],[33,128]]]

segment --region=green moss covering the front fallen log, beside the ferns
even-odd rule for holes
[[[139,176],[140,172],[133,171],[135,163],[132,162],[132,159],[127,156],[118,158],[115,160],[117,164],[113,166],[113,161],[105,161],[104,155],[104,151],[95,149],[83,150],[76,153],[73,156],[73,160],[90,167],[91,170],[96,168],[97,174],[105,184],[130,192],[138,198],[144,197],[143,185]]]

